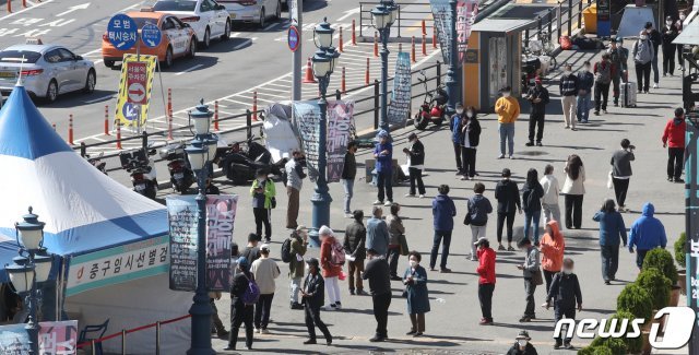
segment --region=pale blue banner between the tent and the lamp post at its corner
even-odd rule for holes
[[[194,196],[168,196],[170,230],[170,289],[197,288],[197,228],[199,213]]]

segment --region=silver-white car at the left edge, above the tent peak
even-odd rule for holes
[[[20,75],[25,90],[47,103],[69,92],[82,90],[90,94],[97,83],[92,61],[63,46],[44,45],[37,38],[0,51],[0,92],[11,92]]]

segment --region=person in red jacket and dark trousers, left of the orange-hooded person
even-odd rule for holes
[[[493,324],[493,291],[495,291],[495,250],[485,237],[478,238],[474,245],[478,248],[478,300],[481,301],[481,326]]]

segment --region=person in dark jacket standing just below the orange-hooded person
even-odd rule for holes
[[[578,275],[573,273],[573,267],[572,259],[564,259],[564,270],[554,276],[550,289],[546,295],[546,309],[550,307],[552,300],[554,301],[554,324],[558,323],[564,317],[566,319],[576,319],[576,305],[578,311],[582,310],[582,293],[580,292]],[[561,332],[561,334],[565,333]],[[561,344],[565,348],[572,348],[570,338],[564,340],[556,338],[554,348],[560,348]]]

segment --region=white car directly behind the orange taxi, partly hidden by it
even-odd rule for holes
[[[189,24],[204,48],[211,38],[230,37],[228,11],[214,0],[158,0],[153,11],[173,14]]]

